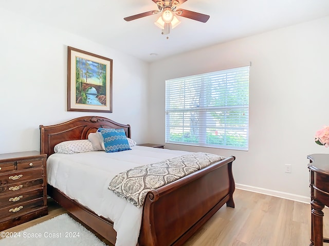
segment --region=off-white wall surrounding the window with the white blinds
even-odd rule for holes
[[[309,197],[306,156],[329,153],[314,142],[315,132],[329,125],[329,16],[152,63],[150,141],[165,142],[166,79],[245,66],[249,61],[249,151],[169,144],[166,148],[234,155],[238,186]],[[291,173],[284,172],[286,163]]]

